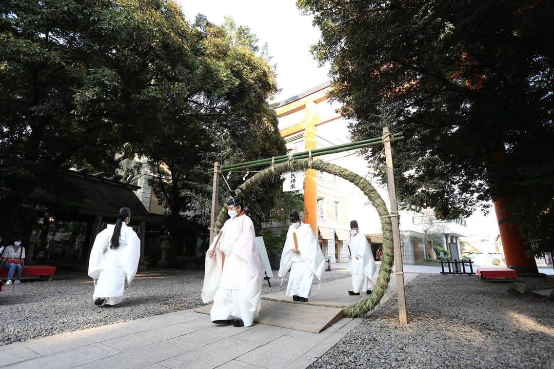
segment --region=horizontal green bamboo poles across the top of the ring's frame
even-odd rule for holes
[[[404,136],[402,136],[401,133],[393,136],[394,141],[402,141],[403,139],[404,139]],[[311,154],[312,154],[312,156],[314,156],[316,154],[317,154],[317,156],[337,154],[337,153],[341,153],[341,152],[345,152],[345,151],[356,150],[356,149],[361,149],[361,148],[366,148],[366,147],[378,147],[382,144],[382,138],[379,139],[378,141],[370,141],[370,140],[365,140],[365,141],[366,142],[362,142],[362,143],[360,143],[361,141],[358,141],[358,142],[349,143],[348,145],[346,145],[346,144],[337,145],[337,146],[340,146],[340,148],[338,148],[338,149],[336,148],[336,146],[331,146],[331,147],[327,147],[327,148],[317,149],[317,152],[316,152],[316,150],[312,150]],[[309,151],[304,151],[304,152],[296,153],[296,154],[293,155],[293,158],[296,159],[296,160],[307,159],[309,157],[310,157],[310,152]],[[227,173],[229,171],[240,170],[240,169],[266,167],[267,165],[270,165],[271,163],[279,164],[279,163],[284,163],[288,160],[289,160],[289,157],[287,155],[281,155],[280,157],[275,157],[275,158],[266,158],[266,159],[254,160],[254,162],[225,165],[225,166],[221,167],[221,173]],[[248,163],[252,163],[252,164],[248,164]],[[213,173],[213,170],[212,169],[208,170],[208,173]]]

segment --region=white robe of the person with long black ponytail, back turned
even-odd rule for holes
[[[93,301],[104,298],[107,305],[123,300],[125,282],[127,286],[131,284],[140,259],[139,236],[125,223],[121,225],[119,247],[110,248],[114,227],[109,225],[98,233],[89,259],[89,277],[95,280]]]

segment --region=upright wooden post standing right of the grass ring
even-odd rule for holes
[[[392,242],[394,247],[394,267],[396,268],[396,287],[398,293],[398,315],[400,323],[408,323],[406,313],[406,292],[404,291],[404,270],[402,266],[402,248],[400,247],[400,227],[398,225],[398,206],[396,204],[396,189],[394,188],[394,172],[392,166],[391,133],[388,127],[383,127],[384,157],[387,164],[388,197],[391,201]]]

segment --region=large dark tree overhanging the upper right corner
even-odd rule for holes
[[[554,245],[554,3],[299,0],[355,139],[383,124],[401,206],[441,219],[510,199],[533,252]]]

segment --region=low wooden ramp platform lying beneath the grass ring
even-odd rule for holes
[[[209,314],[212,304],[194,309],[197,313]],[[344,316],[342,309],[325,308],[306,304],[289,304],[261,300],[257,323],[281,328],[320,333]]]

